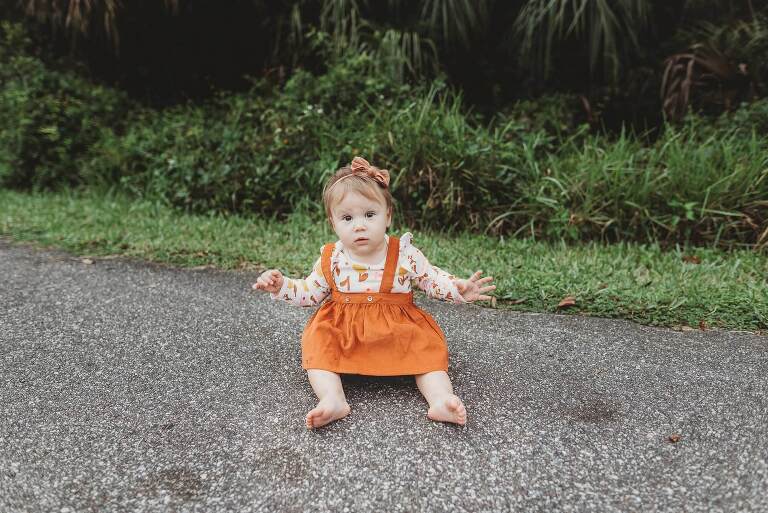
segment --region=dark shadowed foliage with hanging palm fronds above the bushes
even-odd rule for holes
[[[74,43],[97,74],[163,102],[207,96],[211,82],[247,89],[243,74],[285,80],[296,67],[322,72],[329,55],[365,51],[374,57],[372,73],[399,81],[446,73],[482,112],[532,92],[565,90],[585,95],[587,116],[612,104],[606,95],[629,94],[645,98],[625,103],[674,119],[691,101],[696,108],[733,108],[768,79],[768,7],[751,0],[723,4],[242,0],[223,9],[210,0],[18,2],[20,12],[59,35],[59,47]],[[139,31],[141,39],[133,35]],[[111,44],[112,58],[88,44],[102,40]],[[185,47],[187,53],[179,51]],[[233,51],[244,58],[231,59]],[[638,79],[656,85],[639,88]],[[168,83],[173,89],[164,89]]]

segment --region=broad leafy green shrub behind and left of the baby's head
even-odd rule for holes
[[[319,77],[300,70],[280,91],[257,81],[202,106],[137,110],[124,134],[105,134],[94,148],[88,179],[196,211],[320,212],[324,179],[372,140],[368,106],[411,92],[370,77],[368,59]]]

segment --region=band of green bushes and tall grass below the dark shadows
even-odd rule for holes
[[[487,123],[439,80],[402,85],[372,73],[361,53],[279,89],[258,81],[248,93],[155,111],[2,51],[11,62],[0,72],[4,186],[114,186],[193,211],[321,215],[325,178],[363,155],[392,172],[398,215],[418,227],[768,239],[765,102],[714,123],[690,117],[653,142],[609,138],[574,122],[571,97],[519,103]]]

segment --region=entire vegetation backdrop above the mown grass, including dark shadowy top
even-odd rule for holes
[[[0,4],[0,184],[321,216],[363,155],[420,228],[768,244],[755,0]]]

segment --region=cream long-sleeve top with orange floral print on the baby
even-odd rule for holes
[[[429,297],[453,303],[466,303],[453,282],[456,277],[430,264],[412,241],[413,235],[410,232],[400,238],[400,254],[392,292],[407,294],[414,284]],[[322,255],[322,248],[320,253]],[[331,275],[340,292],[378,292],[385,263],[386,258],[377,264],[354,262],[344,250],[341,241],[337,241],[331,254]],[[303,279],[284,277],[283,286],[270,296],[272,299],[297,306],[315,306],[330,292],[318,258],[309,276]]]

